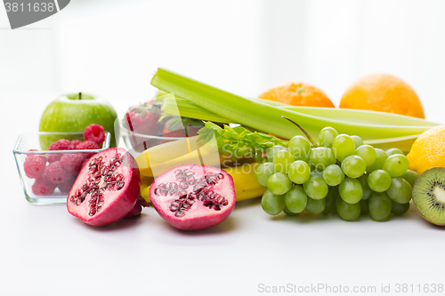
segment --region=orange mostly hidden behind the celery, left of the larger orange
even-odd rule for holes
[[[302,83],[289,83],[272,87],[260,94],[258,98],[274,100],[292,106],[335,107],[326,93],[321,92],[315,86]]]

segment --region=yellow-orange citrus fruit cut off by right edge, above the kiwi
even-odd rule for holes
[[[445,167],[445,125],[422,133],[408,154],[409,169],[418,173],[432,167]]]

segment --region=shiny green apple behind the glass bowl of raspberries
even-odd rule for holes
[[[101,124],[106,132],[111,133],[111,147],[116,147],[114,122],[116,110],[107,100],[85,93],[63,94],[53,100],[44,110],[40,119],[40,132],[84,132],[90,124]],[[58,139],[55,139],[58,140]],[[69,140],[69,139],[68,139]],[[45,150],[54,141],[41,138],[40,144]]]

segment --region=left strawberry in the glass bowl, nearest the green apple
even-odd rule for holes
[[[129,108],[125,113],[125,127],[133,132],[158,135],[161,104],[161,102],[150,100],[142,105]]]

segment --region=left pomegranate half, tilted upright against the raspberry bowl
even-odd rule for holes
[[[139,170],[123,148],[109,148],[88,159],[67,199],[68,212],[103,226],[132,211],[140,193]]]

